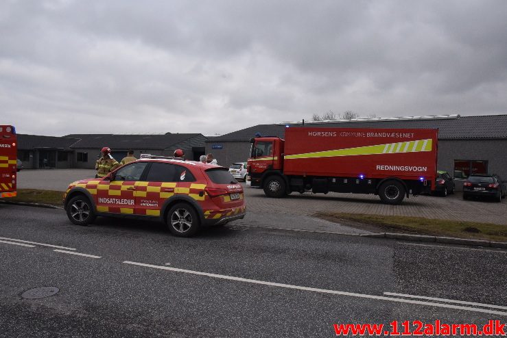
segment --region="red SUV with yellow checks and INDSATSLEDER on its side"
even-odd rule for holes
[[[246,210],[243,188],[226,168],[172,157],[139,159],[102,179],[75,181],[64,208],[78,225],[96,216],[161,220],[180,237],[244,218]]]

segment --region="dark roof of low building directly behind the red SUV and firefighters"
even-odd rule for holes
[[[168,133],[165,135],[118,135],[118,134],[71,134],[66,137],[80,138],[72,148],[102,148],[108,146],[115,149],[166,149],[189,140],[203,137],[200,133]]]

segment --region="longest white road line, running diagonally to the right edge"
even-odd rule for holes
[[[298,290],[304,290],[304,291],[314,291],[314,292],[320,292],[322,294],[336,294],[336,295],[340,295],[340,296],[351,296],[351,297],[359,297],[359,298],[369,298],[369,299],[375,299],[375,300],[389,300],[391,302],[401,302],[401,303],[409,303],[409,304],[428,305],[430,307],[444,307],[444,308],[447,308],[447,309],[458,309],[458,310],[474,311],[474,312],[482,312],[482,313],[491,313],[491,314],[494,314],[494,315],[505,315],[505,316],[507,316],[507,312],[493,311],[493,310],[489,310],[489,309],[477,309],[477,308],[473,308],[473,307],[462,307],[462,306],[459,306],[459,305],[441,304],[441,303],[434,303],[434,302],[423,302],[421,300],[408,300],[408,299],[403,299],[403,298],[392,298],[392,297],[386,297],[386,296],[373,296],[373,295],[367,295],[367,294],[355,294],[353,292],[335,291],[335,290],[328,290],[328,289],[318,289],[316,287],[302,287],[302,286],[298,286],[298,285],[290,285],[290,284],[282,284],[282,283],[274,283],[274,282],[266,282],[266,281],[257,281],[255,279],[226,276],[224,274],[210,274],[208,272],[199,272],[199,271],[185,270],[185,269],[179,269],[179,268],[169,268],[168,266],[152,265],[152,264],[145,264],[145,263],[137,263],[137,262],[132,262],[132,261],[124,261],[123,263],[131,264],[131,265],[144,266],[146,268],[154,268],[154,269],[160,269],[160,270],[169,270],[169,271],[174,271],[174,272],[183,272],[185,274],[196,274],[198,276],[208,276],[208,277],[213,277],[213,278],[227,279],[229,281],[238,281],[238,282],[254,283],[254,284],[261,284],[261,285],[270,285],[270,286],[274,286],[274,287],[285,287],[287,289],[298,289]]]

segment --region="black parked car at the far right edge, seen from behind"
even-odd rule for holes
[[[506,181],[496,175],[470,175],[463,183],[463,199],[470,197],[489,197],[502,202],[506,194]]]

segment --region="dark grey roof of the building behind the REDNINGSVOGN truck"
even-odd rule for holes
[[[213,142],[244,142],[255,137],[255,133],[283,138],[286,125],[301,127],[300,122],[257,125],[219,136],[213,139]],[[438,129],[440,140],[507,139],[507,115],[312,121],[305,122],[305,127]]]

